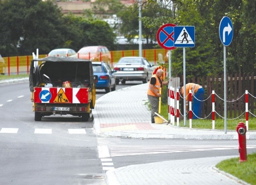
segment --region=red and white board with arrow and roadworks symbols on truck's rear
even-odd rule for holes
[[[88,88],[34,87],[35,103],[88,103]]]

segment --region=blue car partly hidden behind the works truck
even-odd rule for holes
[[[106,93],[116,91],[116,77],[105,62],[92,62],[93,74],[98,76],[96,89],[105,89]]]

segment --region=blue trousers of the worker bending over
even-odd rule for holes
[[[202,117],[203,105],[204,105],[204,88],[199,88],[193,98],[192,111],[194,112],[192,119],[198,119]]]

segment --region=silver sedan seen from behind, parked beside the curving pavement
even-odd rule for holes
[[[125,84],[126,81],[142,81],[142,83],[147,83],[155,69],[153,66],[144,57],[122,57],[114,65],[116,84],[119,81],[122,84]]]

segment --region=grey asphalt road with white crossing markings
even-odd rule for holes
[[[139,83],[120,84],[117,90]],[[96,91],[97,98],[104,94]],[[0,184],[4,185],[105,185],[108,169],[238,155],[237,140],[112,138],[96,134],[93,120],[85,123],[75,116],[45,116],[35,122],[28,83],[0,85],[0,97]],[[254,140],[247,145],[255,145]],[[112,167],[104,166],[100,146],[107,148]]]

